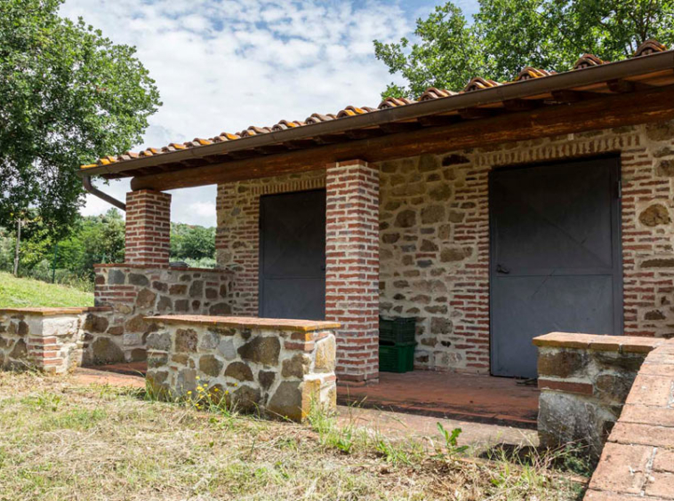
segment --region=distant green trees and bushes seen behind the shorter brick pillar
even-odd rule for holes
[[[92,290],[94,264],[124,262],[124,219],[116,209],[77,219],[60,238],[53,237],[38,218],[24,220],[20,276]],[[16,235],[16,223],[0,227],[0,271],[13,270]],[[215,266],[215,228],[171,223],[171,260]]]

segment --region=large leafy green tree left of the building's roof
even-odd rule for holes
[[[0,3],[0,221],[34,209],[54,235],[84,203],[79,165],[139,143],[161,105],[135,49],[60,18],[62,2]]]

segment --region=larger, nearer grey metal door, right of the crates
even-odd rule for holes
[[[491,364],[536,377],[532,338],[622,334],[620,160],[493,171]]]

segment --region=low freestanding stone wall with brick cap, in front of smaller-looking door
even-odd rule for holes
[[[148,382],[172,398],[206,385],[237,410],[301,421],[312,404],[336,410],[334,322],[158,316]],[[217,388],[217,392],[215,391]]]

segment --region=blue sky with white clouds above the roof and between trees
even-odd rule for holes
[[[409,36],[432,0],[67,0],[118,44],[132,44],[156,80],[162,106],[141,147],[213,137],[348,105],[373,106],[396,81],[373,57],[374,39]],[[475,12],[477,0],[460,0]],[[124,199],[128,181],[104,188]],[[90,196],[84,214],[107,211]],[[213,226],[215,187],[173,192],[172,219]]]

